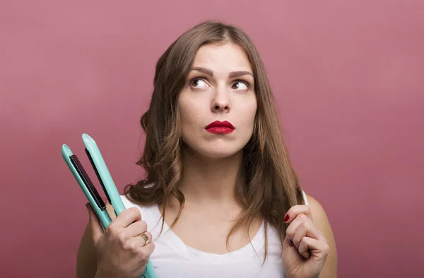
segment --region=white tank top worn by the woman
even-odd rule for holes
[[[307,199],[303,192],[305,204]],[[126,209],[137,207],[141,218],[152,233],[155,250],[151,262],[158,278],[253,278],[285,277],[281,262],[281,243],[276,228],[268,228],[268,254],[264,265],[264,224],[261,225],[252,244],[226,254],[205,253],[184,245],[181,239],[162,221],[157,204],[140,206],[121,196]],[[256,252],[255,252],[256,251]]]

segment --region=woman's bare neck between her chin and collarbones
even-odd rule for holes
[[[182,150],[184,175],[179,189],[192,204],[236,202],[235,185],[242,163],[242,151],[226,158],[205,158]]]

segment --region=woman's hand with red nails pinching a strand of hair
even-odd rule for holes
[[[318,278],[329,254],[329,245],[312,222],[307,205],[291,207],[284,218],[290,223],[283,241],[283,267],[287,278]]]

